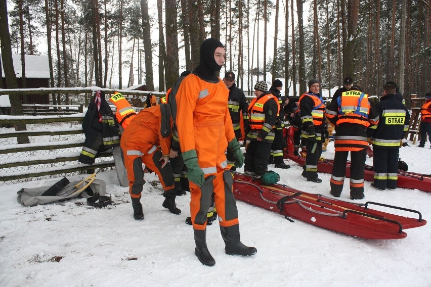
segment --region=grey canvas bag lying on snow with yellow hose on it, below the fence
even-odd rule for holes
[[[73,187],[74,185],[81,182],[83,179],[88,178],[87,175],[80,175],[79,180],[75,180],[67,184],[63,189],[68,189]],[[87,182],[82,181],[80,185],[77,186],[77,189],[83,187]],[[42,196],[43,193],[47,191],[51,186],[44,186],[44,187],[36,187],[36,188],[27,188],[23,187],[21,190],[19,190],[18,194],[18,202],[24,206],[35,206],[39,204],[46,204],[51,203],[59,200],[64,200],[68,198],[74,198],[80,195],[81,197],[89,198],[92,197],[94,194],[98,193],[101,196],[104,196],[106,193],[106,183],[102,179],[95,179],[89,187],[93,191],[93,194],[88,194],[85,190],[83,190],[80,193],[73,193],[69,196]],[[63,190],[62,189],[62,190]]]

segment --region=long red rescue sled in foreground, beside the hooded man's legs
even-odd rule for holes
[[[426,224],[420,212],[375,202],[354,204],[323,195],[301,192],[285,185],[263,185],[260,180],[235,172],[233,194],[237,200],[250,203],[289,217],[369,239],[400,239],[407,228]],[[370,209],[370,205],[416,213],[410,218]],[[289,219],[290,220],[290,219]]]

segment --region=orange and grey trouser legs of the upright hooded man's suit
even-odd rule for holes
[[[212,204],[212,194],[214,194],[220,226],[229,227],[238,224],[238,209],[232,193],[232,184],[229,169],[218,171],[217,176],[207,176],[202,188],[190,181],[190,214],[193,228],[205,230],[206,214]]]

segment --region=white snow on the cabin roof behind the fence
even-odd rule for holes
[[[14,70],[17,78],[22,78],[21,55],[12,54],[12,61],[14,62]],[[2,77],[5,77],[3,69]],[[49,79],[50,65],[48,62],[48,56],[25,55],[25,77]]]

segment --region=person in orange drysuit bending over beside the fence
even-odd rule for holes
[[[175,204],[174,174],[168,161],[169,156],[176,157],[178,154],[170,153],[172,124],[168,105],[157,105],[139,112],[121,136],[120,146],[136,220],[144,219],[141,204],[145,183],[142,164],[157,174],[163,186],[165,200],[162,206],[171,213],[181,214]]]

